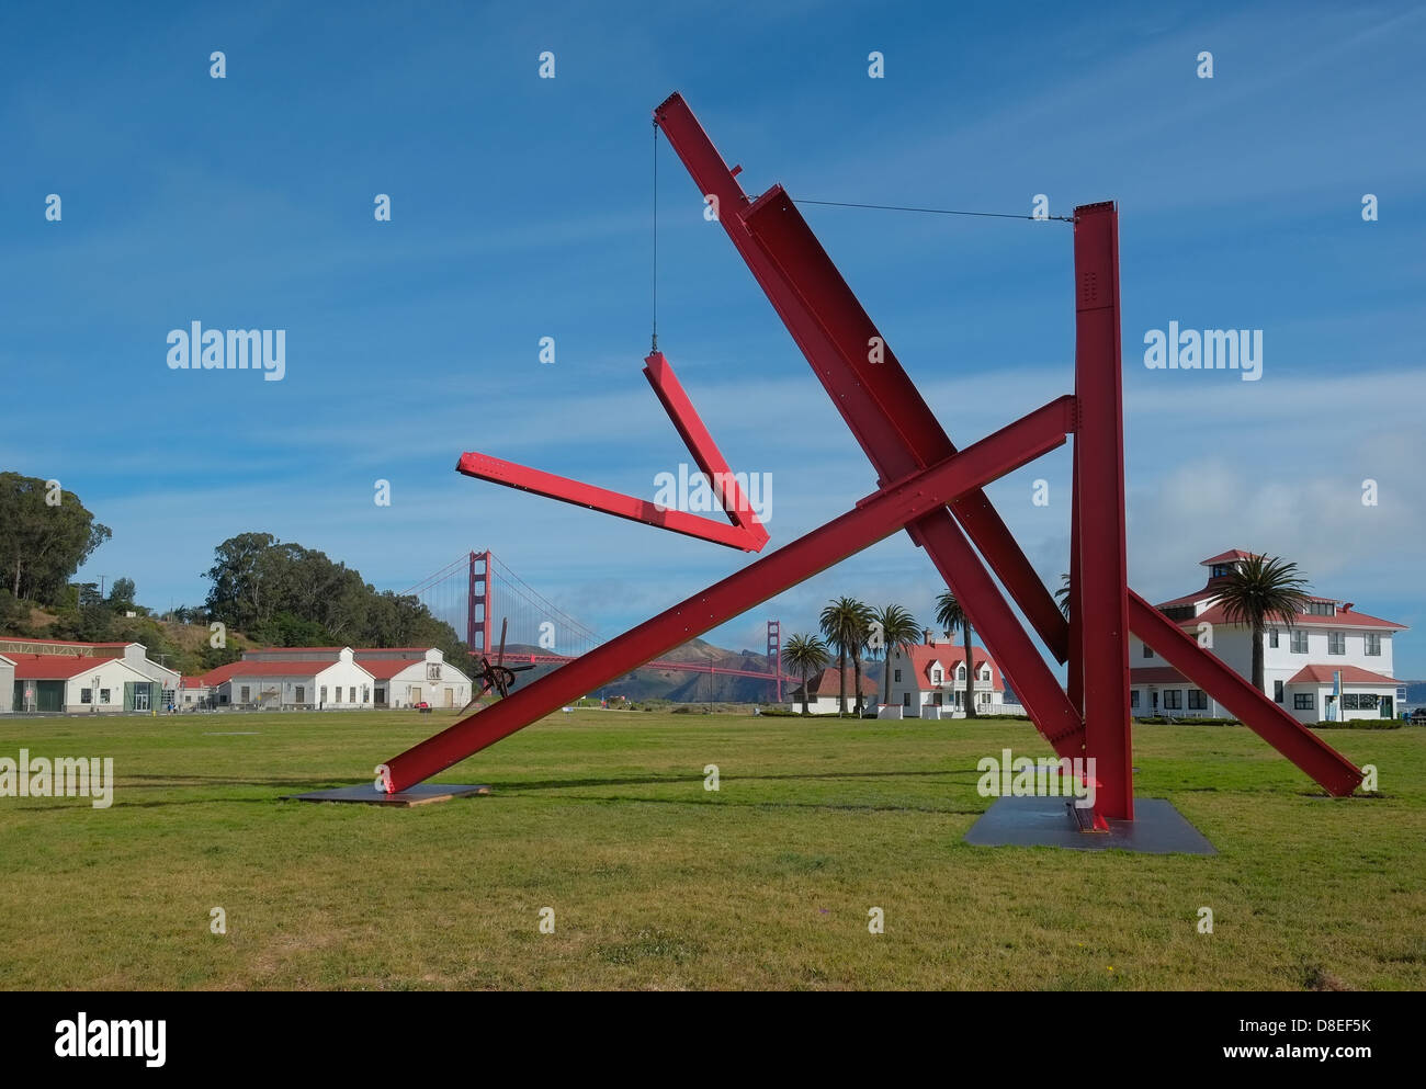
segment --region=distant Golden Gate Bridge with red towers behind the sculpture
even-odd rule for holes
[[[553,604],[489,549],[452,560],[402,596],[416,597],[436,620],[463,633],[472,654],[491,657],[499,650],[498,643],[492,646],[492,633],[501,624],[506,663],[563,666],[603,643],[597,631]],[[767,681],[773,698],[781,703],[783,681],[796,683],[799,678],[783,673],[781,623],[777,620],[767,621],[766,661],[766,670],[743,670],[696,660],[656,659],[639,669],[753,677]]]

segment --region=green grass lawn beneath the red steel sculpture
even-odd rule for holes
[[[1141,797],[1216,857],[975,848],[975,761],[1032,727],[579,711],[388,810],[355,783],[441,714],[0,721],[114,758],[108,810],[0,798],[0,978],[24,988],[1426,988],[1426,730],[1325,737],[1329,800],[1242,727],[1135,727]],[[228,731],[257,731],[228,734]],[[717,764],[720,790],[704,790]],[[227,934],[210,932],[210,911]],[[555,932],[539,912],[555,909]],[[886,932],[867,929],[880,907]],[[1214,934],[1198,932],[1198,909]]]

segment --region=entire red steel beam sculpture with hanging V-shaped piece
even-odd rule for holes
[[[1074,214],[1074,395],[958,450],[781,185],[749,198],[736,181],[740,168],[729,170],[679,94],[655,110],[655,123],[704,200],[716,198],[719,222],[866,452],[877,490],[841,517],[391,758],[384,765],[388,793],[443,771],[901,529],[925,549],[1054,751],[1095,758],[1097,827],[1134,818],[1131,630],[1329,794],[1356,790],[1362,773],[1349,760],[1128,589],[1119,238],[1112,202],[1084,205]],[[700,468],[710,476],[726,472],[663,356],[652,355],[647,363],[645,373]],[[1075,442],[1067,621],[983,489],[1070,435]],[[766,530],[734,489],[720,495],[733,522],[723,527],[481,455],[465,455],[459,468],[734,547],[756,552],[766,542]],[[716,535],[710,526],[729,532]],[[1068,664],[1068,691],[997,580],[1041,643]]]

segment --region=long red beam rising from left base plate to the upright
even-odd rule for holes
[[[800,582],[810,579],[958,495],[1064,445],[1074,398],[1060,398],[930,469],[861,500],[856,509],[759,559],[723,582],[600,644],[533,684],[386,761],[386,790],[405,790],[513,734],[613,677],[667,654]],[[1037,723],[1038,724],[1038,723]],[[1079,755],[1082,731],[1054,744]]]

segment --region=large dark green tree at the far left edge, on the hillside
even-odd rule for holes
[[[64,597],[74,572],[113,536],[77,495],[50,483],[0,473],[0,579],[16,599],[46,604]]]

